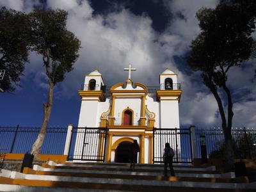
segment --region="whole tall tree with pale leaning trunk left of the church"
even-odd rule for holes
[[[73,69],[79,57],[80,41],[67,30],[67,15],[68,13],[64,10],[35,10],[29,14],[31,49],[42,56],[49,84],[48,99],[43,104],[42,126],[31,149],[31,154],[35,156],[35,159],[38,159],[51,116],[54,86],[65,79],[65,74]]]

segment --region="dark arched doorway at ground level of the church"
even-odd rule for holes
[[[115,150],[115,162],[116,163],[130,163],[131,157],[131,145],[130,141],[123,141],[119,143]]]

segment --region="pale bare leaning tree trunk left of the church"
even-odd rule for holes
[[[48,100],[47,103],[44,103],[44,119],[43,123],[40,129],[40,132],[38,134],[38,137],[33,144],[31,148],[31,154],[33,154],[35,157],[35,160],[39,160],[39,153],[40,149],[44,143],[44,138],[45,138],[45,133],[46,133],[46,128],[51,116],[51,110],[52,110],[52,98],[53,98],[53,88],[54,88],[54,83],[52,83],[51,79],[49,79],[49,92],[48,92]]]

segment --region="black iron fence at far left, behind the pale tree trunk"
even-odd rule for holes
[[[5,153],[30,152],[40,127],[0,127],[0,148]],[[63,154],[67,128],[47,128],[40,154]]]

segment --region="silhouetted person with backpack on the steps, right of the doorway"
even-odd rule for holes
[[[173,156],[174,156],[174,150],[172,147],[170,147],[170,143],[165,143],[165,148],[164,148],[164,177],[167,177],[167,166],[169,164],[169,168],[171,170],[171,175],[175,176],[173,166],[172,166],[172,161],[173,161]]]

